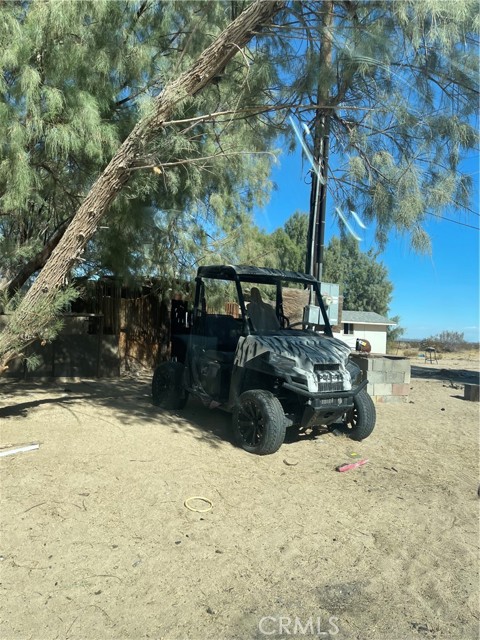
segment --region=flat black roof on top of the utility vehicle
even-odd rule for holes
[[[232,264],[199,267],[197,277],[216,280],[236,280],[238,278],[241,282],[256,282],[258,284],[269,284],[279,280],[306,284],[316,282],[313,276],[299,271],[283,271],[281,269],[269,269],[268,267]]]

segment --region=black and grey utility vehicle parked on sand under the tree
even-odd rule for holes
[[[290,324],[284,315],[285,286],[311,292],[313,304],[301,322]],[[225,304],[232,299],[238,302]],[[225,313],[212,312],[225,307]],[[257,454],[277,451],[291,426],[339,423],[354,440],[371,434],[375,406],[367,381],[350,360],[350,348],[333,337],[320,283],[312,276],[200,267],[190,324],[188,335],[174,336],[184,341],[179,359],[155,370],[152,395],[159,407],[181,409],[192,394],[225,409],[233,414],[238,444]],[[312,325],[321,325],[322,332],[306,328]]]

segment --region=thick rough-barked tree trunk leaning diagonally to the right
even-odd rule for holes
[[[137,123],[97,179],[35,283],[0,334],[0,373],[54,319],[58,291],[95,233],[102,216],[128,181],[130,170],[142,157],[147,142],[158,133],[176,105],[201,91],[284,5],[281,0],[257,0],[205,49],[188,71],[167,84],[158,95],[152,113]],[[45,318],[44,310],[49,302],[52,313],[51,317]],[[43,310],[42,313],[39,309]]]

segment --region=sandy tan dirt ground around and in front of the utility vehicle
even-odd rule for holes
[[[412,360],[369,439],[258,457],[227,415],[159,412],[147,377],[2,380],[0,446],[40,448],[0,458],[0,637],[478,638],[468,381],[476,360]]]

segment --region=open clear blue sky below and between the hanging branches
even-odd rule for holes
[[[476,214],[443,215],[479,227],[478,160],[469,162],[476,173]],[[259,227],[272,232],[282,227],[296,211],[308,211],[310,187],[305,183],[308,167],[300,153],[282,155],[272,174],[277,189],[269,204],[256,212]],[[327,205],[325,242],[338,235],[332,203]],[[361,215],[361,212],[358,212]],[[465,340],[478,342],[479,337],[479,232],[434,217],[425,225],[432,241],[431,255],[416,254],[407,236],[392,234],[379,260],[387,267],[394,291],[390,315],[400,316],[406,338],[426,338],[441,331],[460,331]],[[362,234],[359,234],[362,235]],[[373,229],[363,232],[362,251],[375,247]]]

